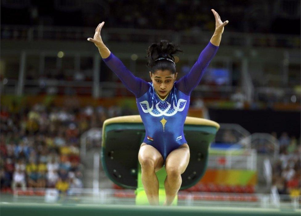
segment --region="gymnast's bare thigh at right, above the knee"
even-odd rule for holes
[[[179,169],[179,172],[182,174],[188,166],[189,158],[189,147],[188,144],[185,143],[169,153],[166,158],[165,168],[166,170],[170,168]]]

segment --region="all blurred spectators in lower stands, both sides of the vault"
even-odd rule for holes
[[[80,137],[90,128],[101,128],[107,118],[134,114],[111,106],[80,107],[66,100],[58,107],[37,103],[21,110],[1,106],[0,178],[1,192],[15,188],[56,188],[68,193],[83,188],[84,165],[80,158]],[[203,107],[201,100],[194,106]],[[279,160],[273,166],[273,184],[280,194],[300,191],[300,139],[283,132],[271,134],[279,145]],[[235,131],[221,130],[216,142],[235,144]],[[98,143],[100,145],[100,143]],[[255,143],[258,153],[273,153],[268,143]]]

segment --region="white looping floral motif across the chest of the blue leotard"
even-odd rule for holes
[[[153,109],[154,108],[154,103],[152,103],[152,106],[150,107],[148,101],[142,101],[139,104],[140,104],[140,106],[141,106],[144,113],[149,113],[152,116],[159,117],[159,116],[162,116],[162,115],[173,116],[178,111],[179,112],[183,111],[185,109],[186,102],[187,102],[187,100],[179,99],[178,103],[177,103],[177,106],[175,106],[175,103],[174,103],[173,108],[171,108],[171,104],[168,103],[167,101],[166,102],[159,102],[159,103],[156,104],[156,109]],[[166,108],[164,107],[164,106],[166,106],[166,105],[164,105],[165,103],[167,103]]]

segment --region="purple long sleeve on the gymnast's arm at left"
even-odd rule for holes
[[[111,54],[109,57],[103,59],[105,64],[108,65],[108,67],[116,73],[116,75],[119,77],[119,79],[122,81],[122,83],[126,86],[126,88],[134,93],[136,98],[141,97],[144,93],[147,92],[149,89],[149,84],[138,78],[135,77],[127,68],[124,66],[122,61],[118,59],[116,56]]]

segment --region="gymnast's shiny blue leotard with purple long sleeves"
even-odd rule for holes
[[[103,59],[126,88],[134,93],[146,131],[143,142],[155,147],[164,162],[171,151],[187,143],[183,127],[190,93],[199,84],[217,50],[218,47],[209,42],[190,72],[174,83],[165,100],[159,98],[151,82],[135,77],[112,52],[108,58]]]

